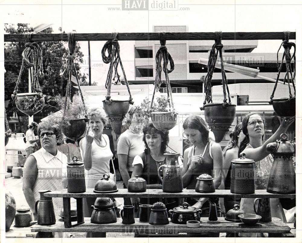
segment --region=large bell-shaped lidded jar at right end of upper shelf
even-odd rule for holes
[[[287,140],[287,134],[281,134],[281,139],[266,145],[274,161],[268,177],[266,191],[269,193],[296,193],[296,173],[293,164],[293,154],[296,144]]]

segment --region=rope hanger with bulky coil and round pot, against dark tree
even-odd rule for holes
[[[31,43],[31,34],[25,33],[25,49],[22,52],[22,65],[16,87],[11,98],[15,101],[18,110],[32,116],[40,112],[45,104],[38,77],[43,76],[42,50],[36,42]],[[28,68],[31,78],[32,93],[18,93],[18,86],[24,68]],[[32,70],[31,70],[32,68]]]

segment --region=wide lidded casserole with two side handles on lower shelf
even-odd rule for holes
[[[187,202],[182,206],[169,210],[171,222],[175,224],[186,224],[189,220],[200,220],[202,210],[189,206]]]

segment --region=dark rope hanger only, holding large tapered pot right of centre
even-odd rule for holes
[[[210,50],[210,56],[209,56],[209,61],[208,61],[208,65],[207,65],[208,72],[204,79],[204,90],[206,93],[206,96],[204,99],[204,105],[207,102],[208,103],[212,102],[211,81],[212,81],[212,76],[213,76],[216,61],[217,61],[217,56],[219,53],[220,63],[221,63],[222,88],[223,88],[223,107],[227,107],[228,103],[227,103],[227,98],[226,98],[226,91],[228,92],[229,103],[231,103],[231,97],[230,97],[229,87],[227,85],[226,72],[224,70],[223,58],[222,58],[222,48],[223,48],[223,44],[221,44],[222,32],[216,31],[215,34],[216,34],[216,40],[215,40],[215,44],[212,46],[212,49]],[[215,49],[217,50],[217,52],[215,51]]]

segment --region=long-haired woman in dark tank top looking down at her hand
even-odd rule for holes
[[[221,183],[223,161],[220,145],[209,139],[207,124],[198,115],[190,115],[185,119],[182,127],[185,137],[193,144],[193,146],[187,148],[184,152],[184,165],[182,169],[184,188],[195,189],[196,178],[204,173],[214,178],[214,185],[218,188]],[[220,217],[219,199],[211,200],[216,203],[217,213]],[[185,201],[195,208],[202,209],[202,217],[209,216],[210,203],[208,198],[185,198]]]

